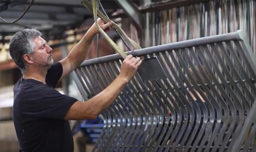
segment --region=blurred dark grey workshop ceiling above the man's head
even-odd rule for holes
[[[30,2],[31,0],[0,0],[0,16],[7,21],[14,21],[21,16]],[[100,2],[109,15],[118,8],[114,0]],[[17,23],[8,24],[0,20],[0,35],[13,35],[24,28],[58,34],[78,28],[87,20],[92,20],[92,13],[81,5],[81,0],[35,0]]]

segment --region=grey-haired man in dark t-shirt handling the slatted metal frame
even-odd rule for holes
[[[113,23],[97,23],[107,30]],[[94,119],[111,105],[142,63],[132,55],[123,60],[119,76],[100,94],[86,102],[60,94],[54,88],[85,59],[95,23],[69,55],[53,64],[52,48],[35,29],[17,32],[10,44],[12,59],[22,78],[14,86],[13,120],[20,152],[73,152],[73,137],[67,120]]]

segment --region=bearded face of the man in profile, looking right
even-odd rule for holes
[[[36,44],[32,54],[33,63],[38,67],[50,67],[53,64],[52,48],[40,36],[33,39],[33,42]]]

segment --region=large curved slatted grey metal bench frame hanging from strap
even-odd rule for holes
[[[256,58],[244,31],[128,53],[156,68],[145,62],[102,112],[104,129],[93,151],[233,152],[239,146],[256,152],[250,111],[256,107]],[[91,98],[104,90],[121,62],[118,54],[83,62],[75,70],[81,94]]]

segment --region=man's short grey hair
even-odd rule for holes
[[[34,52],[36,44],[32,40],[41,35],[42,33],[36,29],[24,29],[16,32],[11,40],[9,53],[19,69],[21,69],[22,74],[27,69],[23,55]]]

